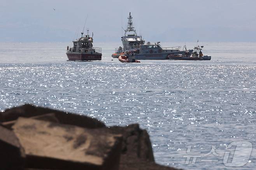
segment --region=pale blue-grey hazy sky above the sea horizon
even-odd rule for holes
[[[0,0],[0,41],[72,41],[88,14],[95,41],[121,42],[129,12],[146,41],[256,42],[256,0]]]

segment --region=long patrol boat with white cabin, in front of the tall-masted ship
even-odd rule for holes
[[[186,46],[184,46],[186,47]],[[129,56],[129,59],[135,60],[165,60],[169,59],[170,54],[173,55],[187,55],[190,56],[193,50],[180,50],[181,47],[161,47],[160,42],[151,44],[140,45],[138,49],[133,49],[130,51],[132,56]]]

